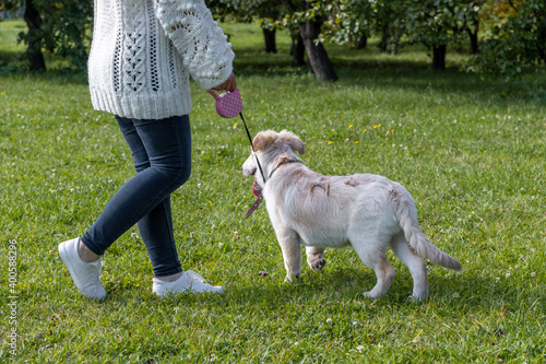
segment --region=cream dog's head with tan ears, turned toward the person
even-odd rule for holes
[[[256,176],[256,183],[259,187],[264,186],[263,177],[258,169],[256,158],[260,161],[263,169],[263,175],[269,178],[272,171],[287,160],[299,157],[299,154],[305,153],[304,142],[293,132],[283,130],[275,132],[273,130],[260,131],[252,141],[254,152],[242,164],[242,173],[245,176]]]

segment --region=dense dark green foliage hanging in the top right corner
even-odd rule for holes
[[[546,2],[525,0],[514,13],[494,27],[482,43],[482,51],[468,70],[519,77],[524,66],[546,62]]]

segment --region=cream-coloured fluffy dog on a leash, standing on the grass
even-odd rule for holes
[[[306,247],[307,262],[313,270],[324,268],[325,248],[353,247],[377,275],[373,289],[364,293],[371,298],[383,296],[394,280],[394,269],[387,261],[388,247],[410,269],[414,281],[412,300],[428,296],[427,263],[423,258],[462,272],[455,258],[423,234],[415,202],[399,183],[371,174],[318,174],[296,154],[305,153],[304,142],[286,130],[259,132],[252,150],[241,171],[254,176],[254,186],[261,189],[281,245],[287,281],[299,278],[301,272],[300,245]]]

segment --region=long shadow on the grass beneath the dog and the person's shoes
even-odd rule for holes
[[[437,269],[438,272],[435,271]],[[145,303],[151,306],[159,304],[164,307],[226,310],[227,314],[252,312],[282,315],[304,308],[339,312],[340,307],[343,307],[348,316],[349,312],[365,310],[366,315],[375,316],[392,310],[415,310],[416,307],[427,312],[430,308],[439,309],[442,317],[453,318],[499,309],[509,313],[523,309],[534,316],[546,314],[545,306],[541,303],[545,289],[539,284],[522,287],[517,281],[503,280],[496,283],[490,278],[475,272],[463,272],[456,277],[446,274],[448,272],[443,268],[434,268],[429,273],[430,295],[423,303],[410,300],[413,280],[405,268],[397,269],[396,279],[387,295],[371,300],[363,295],[376,284],[376,275],[371,270],[364,267],[336,267],[321,272],[305,269],[302,275],[293,283],[283,282],[275,277],[260,277],[258,273],[241,277],[239,282],[226,284],[226,293],[222,295],[178,294],[159,298],[151,292],[150,286],[139,289],[129,284],[110,290],[107,285],[107,297],[94,302],[93,305],[116,306],[136,302],[139,305]],[[87,302],[75,286],[70,284],[69,290],[69,301],[75,305],[79,305],[78,302]],[[22,297],[27,295],[27,298],[35,300],[35,294],[36,292],[27,292],[22,294]],[[43,295],[48,296],[48,293],[43,292]]]

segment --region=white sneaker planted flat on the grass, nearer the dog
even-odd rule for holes
[[[159,297],[167,293],[224,293],[223,287],[206,283],[204,278],[191,270],[182,272],[175,282],[164,282],[157,278],[153,282],[152,291]]]

